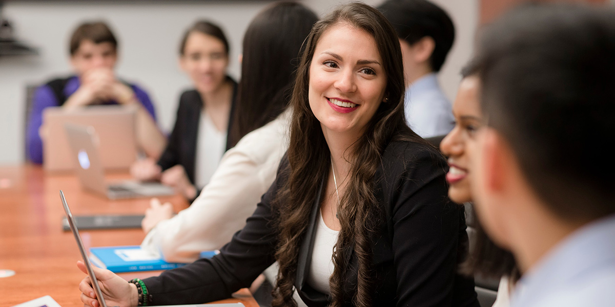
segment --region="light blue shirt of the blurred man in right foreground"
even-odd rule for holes
[[[615,306],[615,215],[575,231],[524,274],[510,307]]]

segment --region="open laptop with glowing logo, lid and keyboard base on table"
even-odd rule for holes
[[[123,181],[106,184],[100,139],[94,127],[66,123],[65,129],[71,148],[70,157],[84,190],[106,196],[110,200],[175,194],[173,188],[158,182]]]

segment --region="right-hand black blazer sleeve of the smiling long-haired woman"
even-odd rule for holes
[[[400,155],[386,176],[398,306],[451,306],[462,208],[447,197],[442,156],[415,146]]]

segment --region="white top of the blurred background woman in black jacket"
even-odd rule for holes
[[[219,131],[207,109],[200,113],[199,134],[196,143],[194,183],[202,188],[209,183],[218,168],[226,147],[226,129]]]

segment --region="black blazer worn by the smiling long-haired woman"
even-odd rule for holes
[[[283,160],[280,169],[287,163]],[[445,169],[442,155],[424,144],[392,142],[384,151],[375,176],[376,197],[386,217],[372,237],[373,306],[478,306],[474,279],[456,273],[467,254],[466,224],[463,207],[446,196]],[[284,180],[277,177],[247,225],[219,255],[145,279],[151,303],[205,303],[249,287],[275,261],[278,215],[271,202]],[[308,306],[327,306],[330,300],[306,283],[319,206],[316,201],[312,208],[295,280]],[[346,305],[352,306],[357,258],[348,254],[351,271],[343,290]]]

